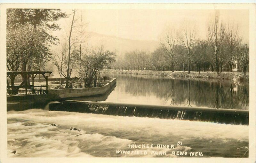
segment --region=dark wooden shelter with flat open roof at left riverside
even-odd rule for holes
[[[32,94],[47,94],[48,92],[48,76],[52,74],[50,71],[7,71],[7,95],[18,94],[20,88],[25,88],[25,95],[27,96],[28,90],[32,90]],[[23,81],[20,85],[14,85],[17,75],[21,75]],[[46,85],[34,86],[34,79],[36,75],[42,75],[46,80]],[[8,77],[11,80],[11,85],[8,82]],[[28,79],[32,79],[32,85],[28,84]],[[46,87],[46,89],[42,89]],[[40,89],[35,89],[40,88]],[[37,91],[37,92],[36,92]]]

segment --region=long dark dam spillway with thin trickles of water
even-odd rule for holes
[[[249,124],[249,111],[236,109],[139,105],[68,100],[49,104],[49,111],[67,111],[173,120],[192,120],[234,125]]]

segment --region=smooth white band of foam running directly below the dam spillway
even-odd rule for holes
[[[148,130],[148,134],[159,133],[160,135],[187,135],[198,138],[248,139],[248,126],[246,125],[57,111],[48,112],[38,111],[37,109],[23,112],[8,112],[7,118],[25,118],[35,122],[51,122],[68,126],[72,124],[73,126],[89,126],[91,128],[108,128],[111,130],[140,131],[143,129]]]

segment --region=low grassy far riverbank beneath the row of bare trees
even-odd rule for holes
[[[105,73],[114,73],[114,74],[136,74],[136,75],[158,75],[163,77],[173,77],[173,78],[205,78],[205,79],[221,79],[221,80],[232,80],[236,83],[246,83],[249,82],[249,75],[243,75],[241,72],[222,72],[221,74],[217,74],[215,72],[199,72],[191,71],[190,74],[188,72],[183,71],[175,71],[172,73],[171,71],[127,71],[127,70],[109,70],[104,71]]]

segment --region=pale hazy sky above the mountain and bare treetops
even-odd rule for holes
[[[63,10],[72,14],[71,9]],[[244,41],[249,41],[249,11],[248,10],[219,10],[220,19],[225,23],[235,23],[239,27]],[[198,38],[207,38],[207,23],[213,18],[214,10],[85,10],[78,9],[76,18],[82,14],[88,22],[87,31],[104,35],[113,35],[132,40],[159,41],[166,26],[179,29],[183,21],[196,24]],[[63,29],[70,26],[71,16],[59,23]],[[67,28],[68,27],[68,28]],[[62,30],[63,32],[64,30]],[[59,32],[58,32],[59,33]]]

